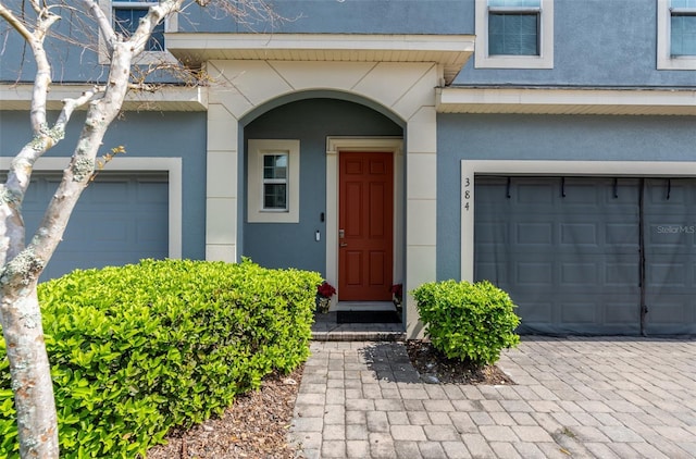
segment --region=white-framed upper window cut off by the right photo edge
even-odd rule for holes
[[[657,67],[696,70],[696,0],[657,3]]]

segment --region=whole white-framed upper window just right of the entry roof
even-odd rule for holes
[[[552,69],[554,0],[476,0],[477,69]]]

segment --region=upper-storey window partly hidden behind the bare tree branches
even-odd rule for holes
[[[153,3],[157,3],[157,1],[158,0],[99,0],[99,5],[111,21],[114,32],[127,37],[138,28],[140,18],[147,14],[148,9]],[[145,46],[145,51],[136,58],[136,63],[152,64],[163,61],[175,62],[175,58],[166,52],[164,33],[175,32],[176,28],[176,14],[158,24]],[[100,36],[99,63],[109,64],[109,55],[105,52],[105,46],[102,39],[103,37]]]

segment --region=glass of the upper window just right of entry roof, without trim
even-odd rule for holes
[[[488,54],[539,55],[537,13],[489,13]]]

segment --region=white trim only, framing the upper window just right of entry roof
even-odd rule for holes
[[[476,69],[554,69],[554,0],[542,0],[539,55],[488,55],[488,1],[475,0]]]

